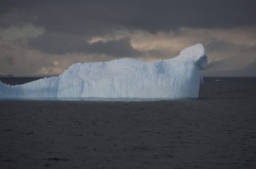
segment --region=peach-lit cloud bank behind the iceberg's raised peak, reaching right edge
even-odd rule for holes
[[[226,60],[230,64],[237,63],[236,66],[242,66],[255,59],[255,35],[255,26],[222,29],[182,27],[176,31],[159,31],[154,34],[148,31],[116,31],[102,37],[91,37],[89,42],[108,42],[129,38],[132,48],[142,53],[142,59],[146,56],[154,59],[173,57],[181,49],[201,42],[207,49],[210,61]]]

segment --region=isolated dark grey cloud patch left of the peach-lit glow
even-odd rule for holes
[[[108,54],[116,57],[136,57],[140,54],[139,51],[131,47],[129,38],[90,44],[83,36],[49,31],[38,38],[31,39],[28,45],[30,48],[44,51],[47,54],[89,53]]]

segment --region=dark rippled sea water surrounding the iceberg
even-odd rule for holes
[[[256,78],[205,78],[199,99],[2,100],[0,168],[256,168]]]

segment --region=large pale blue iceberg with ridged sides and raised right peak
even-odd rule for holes
[[[201,70],[207,67],[202,44],[177,57],[145,62],[114,59],[77,63],[60,76],[9,86],[0,82],[1,99],[184,99],[198,98]]]

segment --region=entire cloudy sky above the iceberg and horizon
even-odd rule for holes
[[[0,74],[175,57],[202,43],[204,76],[256,76],[253,0],[0,0]]]

